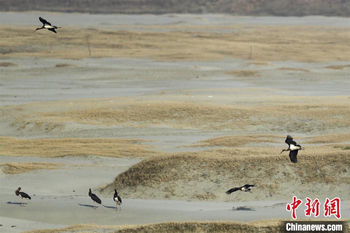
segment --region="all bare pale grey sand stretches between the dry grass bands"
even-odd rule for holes
[[[91,15],[48,12],[1,12],[1,24],[38,25],[38,15],[68,26],[108,27],[115,30],[124,25],[182,24],[218,25],[222,23],[335,25],[348,27],[348,20],[338,17],[236,17],[227,15]],[[72,20],[72,18],[74,20]],[[75,20],[78,18],[79,20]],[[80,20],[81,19],[81,20]],[[71,24],[69,24],[71,23]],[[103,24],[104,23],[104,24]],[[58,23],[57,23],[58,25]],[[130,27],[129,27],[130,28]],[[162,30],[149,28],[148,30]],[[205,30],[205,29],[201,29]],[[274,95],[348,95],[349,69],[327,69],[328,65],[346,65],[348,62],[329,61],[303,63],[294,61],[269,62],[269,65],[252,65],[249,60],[227,59],[219,61],[157,62],[150,59],[101,58],[63,60],[49,58],[10,58],[1,62],[17,64],[0,67],[0,106],[30,103],[34,101],[76,98],[117,98],[120,96],[154,95],[161,99],[162,91],[169,95],[184,95],[187,90],[196,98],[210,103],[234,99],[234,88],[261,88]],[[55,67],[59,63],[73,66]],[[305,68],[309,72],[279,70],[281,67]],[[260,77],[239,78],[225,74],[234,69],[257,70]],[[331,77],[331,78],[329,78]],[[302,82],[302,85],[295,83]],[[231,88],[228,94],[222,88]],[[261,91],[260,89],[260,91]],[[227,94],[227,95],[226,95]],[[193,94],[194,95],[194,94]],[[200,96],[199,96],[200,95]],[[226,95],[226,96],[225,96]],[[153,96],[153,98],[154,98]],[[208,97],[212,96],[212,97]],[[190,99],[191,95],[184,96]],[[184,98],[183,97],[183,98]],[[176,97],[178,99],[178,97]],[[184,99],[183,99],[184,100]],[[213,136],[232,135],[230,130],[205,131],[182,128],[126,128],[71,124],[59,132],[41,130],[20,131],[1,118],[0,135],[17,137],[133,137],[151,139],[151,144],[163,151],[198,150],[200,147],[178,147],[193,144]],[[345,129],[346,130],[346,129]],[[255,128],[251,129],[254,132]],[[282,132],[278,132],[282,133]],[[284,132],[283,132],[284,133]],[[322,134],[325,132],[319,132]],[[328,132],[329,133],[329,132]],[[297,134],[297,135],[295,135]],[[295,132],[295,136],[301,134]],[[302,141],[300,142],[302,143]],[[283,144],[284,146],[284,144]],[[290,218],[285,202],[290,200],[239,201],[235,198],[250,193],[231,194],[231,201],[186,201],[124,199],[122,211],[115,211],[112,197],[102,196],[96,190],[99,185],[111,182],[118,173],[140,159],[62,157],[35,158],[1,156],[0,162],[57,162],[63,168],[38,170],[23,174],[6,175],[0,172],[0,232],[20,232],[35,228],[56,228],[69,224],[138,224],[165,220],[255,220]],[[31,195],[26,207],[21,207],[14,190],[21,186]],[[285,184],[286,192],[292,187]],[[93,209],[87,196],[88,188],[99,195],[102,204]],[[305,187],[314,188],[314,187]],[[326,187],[330,189],[332,187]],[[344,192],[346,192],[344,187]],[[73,191],[74,190],[74,191]],[[149,190],[150,191],[150,190]],[[327,193],[324,190],[322,193]],[[254,194],[258,189],[254,190]],[[35,195],[34,195],[35,194]],[[42,198],[42,199],[41,199]],[[262,197],[265,198],[265,197]],[[245,206],[232,211],[232,207]],[[297,210],[303,216],[304,206]],[[342,218],[350,217],[350,201],[342,200]],[[11,227],[11,225],[16,225]]]

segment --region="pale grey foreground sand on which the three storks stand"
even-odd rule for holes
[[[38,170],[22,174],[0,173],[0,228],[1,232],[20,232],[35,228],[56,228],[77,223],[106,225],[142,224],[161,221],[184,220],[258,220],[290,218],[285,203],[290,200],[235,201],[239,195],[233,193],[232,201],[148,200],[124,199],[122,210],[116,211],[112,195],[103,196],[95,189],[113,180],[117,173],[127,169],[139,159],[109,157],[17,157],[1,156],[1,162],[56,162],[63,169]],[[31,195],[25,207],[14,194],[21,186]],[[93,201],[87,195],[88,188],[97,194],[102,205],[92,208]],[[73,191],[74,190],[74,191]],[[254,194],[258,193],[254,189]],[[341,202],[342,218],[350,217],[350,201]],[[244,206],[240,210],[232,207]],[[297,211],[303,217],[304,206]],[[15,225],[15,227],[11,227]]]

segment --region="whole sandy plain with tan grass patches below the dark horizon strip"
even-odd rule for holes
[[[41,30],[29,35],[27,26],[38,24],[37,14],[66,26],[57,34]],[[93,56],[88,56],[85,40],[72,39],[77,27],[78,34],[94,37],[90,40]],[[0,30],[15,39],[1,38],[1,63],[15,65],[0,66],[0,163],[59,164],[55,169],[36,166],[22,173],[0,172],[2,229],[290,219],[285,203],[296,192],[295,186],[305,185],[300,177],[310,178],[307,171],[297,168],[312,167],[312,156],[327,156],[318,153],[322,146],[330,151],[329,156],[349,156],[348,29],[344,18],[319,16],[2,12]],[[300,31],[290,34],[288,30]],[[37,44],[37,36],[43,35],[48,42],[60,38],[68,47],[57,45],[57,50],[47,52]],[[247,42],[239,41],[243,37]],[[170,38],[174,43],[169,47]],[[116,39],[120,46],[114,46]],[[286,39],[288,44],[276,46]],[[252,57],[247,59],[251,43]],[[189,54],[193,44],[198,47]],[[227,52],[228,45],[244,48]],[[300,151],[298,164],[290,163],[286,153],[279,155],[286,148],[287,133],[309,149]],[[276,173],[268,173],[271,180],[279,180],[278,193],[273,192],[276,185],[262,182],[253,193],[227,196],[226,189],[253,182],[258,166],[246,176],[249,180],[241,180],[220,167],[199,171],[186,167],[191,164],[186,159],[181,161],[183,166],[160,168],[172,174],[185,167],[188,170],[183,174],[193,173],[190,178],[137,188],[124,183],[125,189],[119,192],[129,193],[121,196],[122,211],[115,210],[109,191],[100,191],[122,172],[153,156],[192,159],[192,153],[203,151],[206,158],[215,154],[232,160],[241,156],[234,150],[253,157],[258,148],[264,158],[278,160],[273,163],[280,165],[273,170]],[[205,161],[203,166],[210,164]],[[328,172],[319,176],[322,182],[310,184],[308,180],[307,189],[297,193],[319,198],[340,194],[342,217],[350,217],[349,170],[336,173],[334,164],[316,170]],[[284,179],[283,172],[293,174]],[[330,174],[338,176],[331,179]],[[14,195],[18,186],[32,197],[26,207]],[[103,205],[91,207],[88,188],[101,197]],[[240,208],[233,211],[232,207]],[[301,208],[297,214],[303,217]]]

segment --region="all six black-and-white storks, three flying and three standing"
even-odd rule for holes
[[[58,27],[58,26],[52,26],[51,23],[49,23],[48,21],[46,21],[42,17],[39,17],[39,20],[40,20],[40,22],[42,22],[42,26],[36,28],[33,32],[35,32],[36,30],[40,30],[40,29],[48,29],[50,31],[53,31],[54,33],[57,33],[55,31],[55,29],[61,28],[61,27]],[[303,148],[301,147],[301,145],[296,144],[296,142],[293,141],[293,137],[290,136],[290,135],[287,135],[287,137],[286,137],[286,139],[284,141],[285,141],[285,143],[288,144],[288,148],[287,149],[282,149],[282,151],[280,153],[282,153],[283,151],[289,151],[290,161],[293,162],[293,163],[296,163],[297,162],[296,155],[298,153],[298,150],[301,150]],[[238,190],[239,191],[247,191],[247,192],[251,193],[251,188],[250,187],[255,187],[255,186],[256,186],[256,184],[244,184],[243,186],[240,186],[240,187],[233,187],[233,188],[227,190],[225,193],[229,195],[232,192],[235,192],[235,191],[238,191]],[[21,192],[20,191],[20,187],[17,188],[17,190],[15,191],[15,194],[17,196],[19,196],[22,200],[23,199],[27,199],[27,200],[31,199],[28,194],[26,194],[25,192]],[[88,195],[93,200],[93,208],[96,207],[95,206],[95,202],[99,203],[99,204],[102,203],[101,199],[98,198],[98,196],[96,194],[91,192],[91,188],[89,188]],[[116,189],[114,189],[113,201],[115,202],[116,209],[119,206],[119,208],[121,210],[121,206],[120,206],[121,205],[121,198],[118,195],[118,192],[116,191]],[[25,203],[23,201],[21,202],[21,204],[24,204],[24,206],[25,206]]]

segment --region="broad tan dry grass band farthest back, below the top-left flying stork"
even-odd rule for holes
[[[153,26],[153,25],[151,25]],[[163,25],[157,28],[182,28]],[[141,26],[142,27],[142,26]],[[147,27],[147,26],[144,26]],[[59,36],[49,36],[37,45],[40,34],[28,33],[27,27],[0,26],[0,57],[88,57],[88,36],[92,57],[147,57],[156,60],[213,60],[227,57],[252,58],[259,61],[349,60],[346,27],[224,25],[235,32],[200,32],[206,26],[185,26],[187,31],[144,32],[68,28]],[[129,30],[129,31],[127,31]],[[336,34],[336,36],[334,36]],[[258,35],[258,36],[256,36]],[[51,45],[56,46],[52,47]]]

